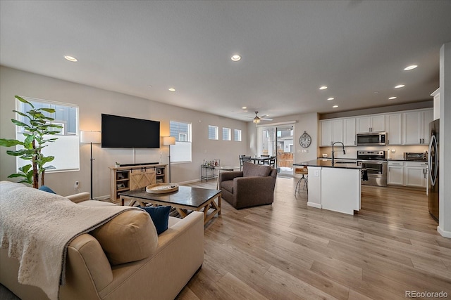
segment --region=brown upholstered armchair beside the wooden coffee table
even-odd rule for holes
[[[244,162],[242,171],[219,174],[221,197],[235,209],[271,204],[276,178],[276,169]]]

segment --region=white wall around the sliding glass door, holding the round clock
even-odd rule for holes
[[[316,152],[318,151],[318,114],[301,114],[301,115],[290,115],[286,117],[278,117],[274,118],[273,121],[262,121],[259,126],[271,126],[271,124],[283,123],[283,122],[291,122],[294,121],[293,126],[293,144],[294,144],[294,162],[305,162],[307,160],[316,159]],[[281,125],[283,126],[283,125]],[[305,149],[307,152],[301,152],[304,150],[299,145],[299,137],[307,131],[311,136],[311,145],[309,148]],[[247,136],[248,136],[248,148],[246,151],[247,155],[255,155],[258,153],[257,151],[257,126],[254,123],[249,122],[247,125]]]

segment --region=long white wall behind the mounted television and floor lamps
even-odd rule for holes
[[[221,159],[221,165],[238,165],[238,155],[247,150],[246,122],[218,117],[216,115],[187,110],[144,98],[97,89],[69,81],[45,77],[0,66],[0,136],[16,138],[11,119],[15,117],[14,96],[54,100],[72,103],[80,107],[80,130],[101,130],[101,113],[121,115],[161,122],[161,136],[169,135],[169,121],[192,123],[192,163],[171,164],[173,182],[196,181],[200,177],[203,160]],[[208,125],[242,130],[242,142],[209,141]],[[162,144],[162,141],[161,141]],[[80,171],[46,174],[46,185],[56,193],[70,195],[76,191],[75,181],[80,182],[80,192],[89,192],[89,144],[80,144]],[[160,156],[161,155],[161,156]],[[93,146],[94,197],[109,195],[109,167],[114,162],[121,164],[139,162],[168,163],[168,147],[160,149],[137,149],[135,157],[131,149],[107,149]],[[161,160],[160,160],[161,157]],[[16,173],[16,159],[6,155],[6,148],[0,148],[0,180],[8,180]]]

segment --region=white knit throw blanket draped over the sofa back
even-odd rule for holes
[[[18,282],[58,299],[68,244],[132,207],[84,207],[65,197],[0,182],[0,247],[20,262]],[[135,208],[136,209],[136,208]]]

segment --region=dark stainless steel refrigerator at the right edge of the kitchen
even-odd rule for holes
[[[431,140],[429,141],[428,151],[428,209],[429,214],[438,221],[438,146],[440,142],[439,131],[440,119],[429,123],[429,132],[431,133]]]

